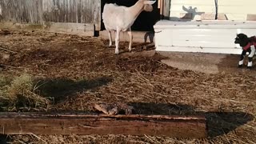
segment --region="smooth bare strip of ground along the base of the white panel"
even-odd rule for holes
[[[179,53],[159,52],[166,59],[161,62],[181,70],[194,70],[206,74],[246,74],[256,76],[255,58],[254,66],[246,69],[248,58],[244,60],[244,66],[238,68],[239,54],[205,54],[205,53]]]

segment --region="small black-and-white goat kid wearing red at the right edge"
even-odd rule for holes
[[[253,66],[252,61],[255,54],[256,37],[253,36],[248,38],[246,34],[237,34],[234,43],[239,44],[242,47],[242,54],[240,56],[238,67],[242,67],[245,55],[246,53],[249,53],[247,68],[251,68]]]

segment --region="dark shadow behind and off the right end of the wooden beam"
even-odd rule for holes
[[[252,114],[244,112],[202,112],[188,105],[172,105],[166,103],[130,103],[134,106],[133,114],[174,114],[174,115],[205,115],[207,135],[214,138],[227,134],[254,119]]]

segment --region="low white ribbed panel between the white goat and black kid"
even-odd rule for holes
[[[234,44],[238,33],[256,34],[256,22],[172,22],[154,26],[156,50],[240,54]]]

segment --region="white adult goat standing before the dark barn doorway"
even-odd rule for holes
[[[131,51],[131,45],[133,35],[131,34],[130,26],[134,24],[134,21],[138,15],[143,11],[152,11],[153,4],[156,1],[150,0],[138,0],[134,6],[118,6],[116,4],[106,4],[103,9],[102,19],[106,30],[110,37],[110,46],[112,46],[111,30],[115,31],[115,54],[118,54],[118,45],[120,32],[128,31],[130,37],[129,51]]]

